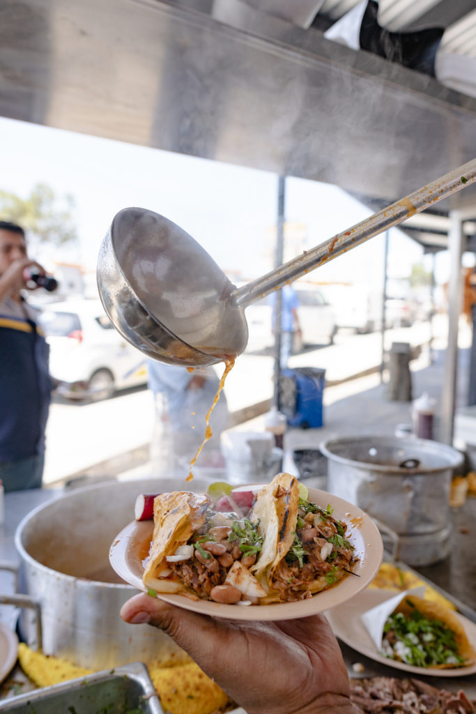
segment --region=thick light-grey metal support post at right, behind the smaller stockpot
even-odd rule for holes
[[[455,421],[457,358],[458,358],[458,322],[461,312],[461,259],[465,250],[465,233],[462,216],[458,211],[450,211],[450,281],[448,285],[448,340],[445,351],[443,372],[440,441],[452,445]]]

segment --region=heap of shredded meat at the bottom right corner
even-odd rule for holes
[[[350,698],[360,714],[476,713],[476,702],[462,690],[449,692],[412,678],[351,679]]]

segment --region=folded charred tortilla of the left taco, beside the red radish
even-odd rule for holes
[[[205,523],[210,501],[203,493],[171,491],[161,493],[153,501],[153,536],[143,583],[159,593],[179,593],[186,590],[178,579],[158,578],[166,565],[166,556],[184,545],[194,531]]]

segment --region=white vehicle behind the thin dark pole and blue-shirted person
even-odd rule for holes
[[[336,333],[333,307],[325,300],[323,293],[315,288],[294,286],[298,294],[298,317],[301,336],[295,334],[293,353],[300,352],[306,345],[332,344]],[[270,295],[246,308],[248,322],[248,351],[267,349],[274,344],[273,307]]]

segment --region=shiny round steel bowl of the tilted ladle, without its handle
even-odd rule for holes
[[[124,208],[101,245],[98,290],[113,326],[161,362],[205,366],[243,352],[248,326],[236,289],[168,218]]]

